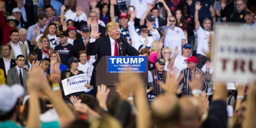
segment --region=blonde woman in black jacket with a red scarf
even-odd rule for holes
[[[47,36],[42,35],[38,40],[38,43],[42,43],[41,49],[36,48],[34,51],[38,54],[38,60],[42,61],[44,58],[49,58],[49,55],[53,49],[50,47],[50,40]]]

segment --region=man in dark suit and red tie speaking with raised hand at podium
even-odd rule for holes
[[[93,64],[93,75],[90,80],[90,85],[94,86],[94,94],[96,94],[96,70],[95,67],[97,66],[99,60],[104,55],[108,56],[121,56],[121,55],[140,55],[139,51],[137,51],[134,47],[132,47],[128,42],[127,38],[120,37],[120,30],[119,24],[117,22],[109,22],[106,25],[107,35],[105,37],[98,38],[101,33],[98,33],[97,30],[97,22],[93,22],[92,29],[90,33],[91,39],[86,48],[87,55],[96,55],[97,60]],[[98,38],[98,39],[97,39]],[[117,41],[121,48],[118,48]],[[119,50],[118,50],[119,49]]]

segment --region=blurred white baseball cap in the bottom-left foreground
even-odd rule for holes
[[[20,84],[0,85],[0,115],[9,113],[23,93],[24,88]]]

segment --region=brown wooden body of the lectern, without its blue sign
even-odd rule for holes
[[[118,57],[118,56],[117,56]],[[120,56],[119,56],[120,57]],[[127,56],[132,57],[132,56]],[[146,86],[148,86],[148,57],[146,57],[146,64],[141,65],[146,66],[146,73],[138,73],[143,79],[145,85],[145,95]],[[110,93],[108,94],[108,99],[115,97],[118,93],[115,91],[115,82],[119,82],[119,73],[109,73],[108,72],[108,56],[103,56],[96,66],[96,86],[105,84],[110,88]]]

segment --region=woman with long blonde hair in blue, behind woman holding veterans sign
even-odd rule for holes
[[[57,51],[52,51],[49,55],[49,58],[51,60],[51,65],[49,66],[49,69],[47,70],[48,73],[50,73],[51,66],[54,67],[54,69],[60,68],[60,71],[66,71],[68,67],[65,64],[61,63],[60,55]]]

